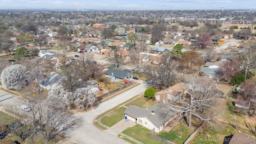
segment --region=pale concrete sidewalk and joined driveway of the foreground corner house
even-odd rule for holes
[[[137,99],[139,97],[133,98],[132,100],[129,100],[128,102],[124,103],[124,104],[120,104],[116,109],[120,108],[120,107],[125,107],[127,108],[127,106],[125,106],[126,104],[128,104],[129,102],[132,102],[133,100]],[[101,126],[107,128],[107,130],[104,130],[110,134],[112,134],[113,136],[118,136],[118,134],[122,135],[122,136],[126,136],[125,134],[122,133],[122,131],[124,131],[126,128],[128,127],[132,127],[134,126],[136,123],[129,121],[129,120],[121,120],[120,122],[118,122],[117,124],[115,124],[114,126],[112,126],[111,128],[102,124],[100,121],[101,119],[110,114],[111,112],[113,112],[114,110],[111,110],[109,112],[107,112],[106,114],[102,115],[98,120],[94,120],[94,122],[98,122],[98,124],[100,124]],[[124,124],[125,123],[125,124]],[[134,124],[134,125],[133,125]],[[116,129],[117,128],[117,129]],[[142,142],[135,140],[134,138],[130,137],[130,136],[126,136],[126,138],[136,142],[137,144],[143,144]]]

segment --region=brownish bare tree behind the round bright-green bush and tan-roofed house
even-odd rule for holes
[[[163,63],[159,66],[147,65],[145,67],[146,81],[154,88],[172,86],[176,76],[177,62],[172,60],[171,56],[166,54],[163,58]]]

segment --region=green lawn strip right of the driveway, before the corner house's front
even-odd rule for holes
[[[131,128],[127,128],[122,133],[144,143],[144,144],[162,144],[162,142],[159,142],[158,140],[155,140],[154,138],[151,138],[149,136],[151,130],[141,127],[139,124],[136,124],[135,126]]]

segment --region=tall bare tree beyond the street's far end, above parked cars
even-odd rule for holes
[[[144,67],[146,66],[146,59],[149,57],[149,55],[142,54],[145,50],[146,46],[141,42],[134,50],[134,53],[130,54],[130,63],[134,67],[138,68],[138,74],[144,70]]]

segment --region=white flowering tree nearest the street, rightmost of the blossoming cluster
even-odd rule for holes
[[[82,108],[87,110],[95,102],[97,92],[98,90],[92,88],[92,86],[76,89],[74,92],[74,102],[77,104],[78,110]]]

